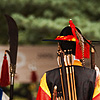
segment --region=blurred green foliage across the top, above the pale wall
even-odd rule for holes
[[[4,14],[19,29],[19,44],[41,44],[55,38],[72,19],[90,40],[100,40],[100,0],[0,0],[0,44],[8,43]]]

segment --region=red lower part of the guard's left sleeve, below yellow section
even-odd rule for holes
[[[36,100],[51,100],[48,94],[43,91],[43,89],[39,86],[38,94]]]

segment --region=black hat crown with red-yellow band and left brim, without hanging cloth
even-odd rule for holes
[[[70,25],[63,28],[62,31],[60,32],[59,36],[57,36],[55,39],[43,39],[43,41],[54,41],[54,42],[76,41],[77,36],[76,36],[76,33],[73,34],[73,32],[75,30],[77,30],[81,34],[81,31],[77,27],[75,27],[72,20],[70,20],[69,23],[70,23]],[[73,28],[74,28],[74,30],[73,30]]]

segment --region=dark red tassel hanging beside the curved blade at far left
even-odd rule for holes
[[[8,69],[8,60],[6,56],[6,52],[3,59],[2,69],[1,69],[1,79],[0,86],[6,87],[10,84],[9,82],[9,69]]]

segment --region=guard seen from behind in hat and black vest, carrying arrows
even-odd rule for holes
[[[58,68],[44,73],[36,100],[92,100],[96,71],[85,66],[89,58],[91,42],[86,40],[72,20],[65,27],[57,41]],[[96,96],[96,95],[95,95]],[[93,99],[97,100],[97,99]]]

